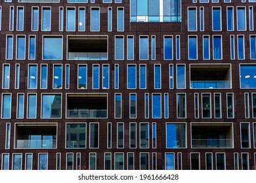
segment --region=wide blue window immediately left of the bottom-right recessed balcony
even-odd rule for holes
[[[186,124],[166,124],[166,148],[186,148]]]

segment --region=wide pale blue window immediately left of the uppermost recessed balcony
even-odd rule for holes
[[[62,37],[43,38],[43,59],[62,59]]]

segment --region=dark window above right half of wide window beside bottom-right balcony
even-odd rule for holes
[[[186,118],[186,94],[177,93],[177,118]]]

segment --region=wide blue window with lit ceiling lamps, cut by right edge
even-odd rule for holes
[[[241,88],[256,88],[256,65],[240,66],[240,86]]]

